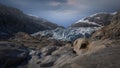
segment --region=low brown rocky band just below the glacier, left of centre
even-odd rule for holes
[[[22,43],[29,49],[41,49],[45,46],[62,46],[64,42],[57,41],[55,39],[49,39],[46,36],[32,37],[30,34],[18,32],[15,37],[9,39],[14,43]]]

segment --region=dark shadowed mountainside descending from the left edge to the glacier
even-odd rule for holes
[[[58,25],[45,19],[26,15],[16,8],[0,5],[0,38],[8,38],[17,32],[34,33],[57,27]]]

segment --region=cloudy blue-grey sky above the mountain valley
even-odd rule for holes
[[[120,10],[120,0],[0,0],[0,3],[65,27],[94,13]]]

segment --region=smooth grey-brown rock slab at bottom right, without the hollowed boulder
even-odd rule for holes
[[[82,56],[73,59],[72,68],[119,68],[120,46],[111,41],[95,42]],[[120,41],[119,41],[120,42]],[[100,43],[100,45],[99,45]],[[117,42],[116,42],[117,43]],[[89,45],[89,46],[90,46]]]

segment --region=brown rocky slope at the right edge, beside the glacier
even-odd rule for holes
[[[120,12],[112,18],[111,24],[96,31],[92,38],[94,39],[119,39],[120,38]]]

